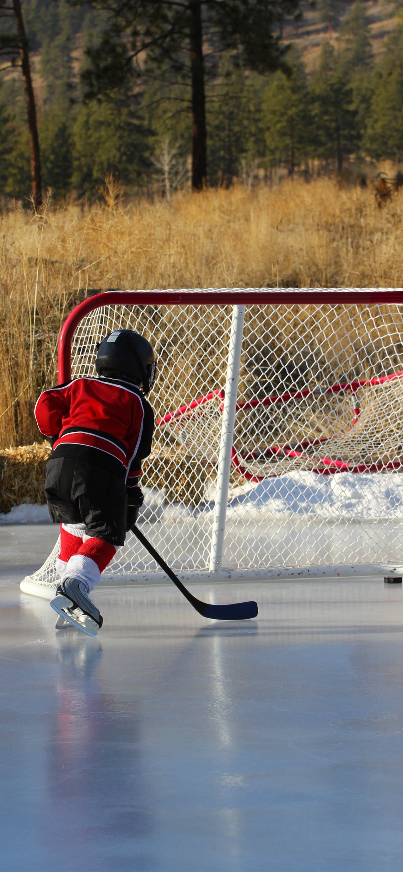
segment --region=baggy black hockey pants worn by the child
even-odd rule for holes
[[[51,520],[85,523],[86,534],[111,545],[124,545],[127,497],[125,480],[87,460],[51,457],[44,494]]]

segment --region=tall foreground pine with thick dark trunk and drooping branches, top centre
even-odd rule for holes
[[[108,10],[110,22],[99,44],[87,51],[88,97],[122,87],[144,72],[186,83],[192,115],[192,187],[201,190],[207,174],[206,38],[215,57],[238,51],[250,70],[276,70],[287,46],[274,28],[284,15],[297,14],[297,0],[110,0],[102,8]],[[144,69],[140,56],[146,58]]]

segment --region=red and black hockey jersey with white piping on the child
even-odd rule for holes
[[[41,393],[35,418],[40,432],[54,439],[56,456],[90,454],[137,483],[141,460],[151,451],[154,414],[136,385],[103,376],[75,378]]]

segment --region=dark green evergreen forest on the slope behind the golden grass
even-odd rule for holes
[[[112,177],[131,194],[169,197],[190,185],[197,70],[189,65],[183,10],[195,5],[202,20],[203,184],[252,186],[293,174],[372,178],[381,161],[399,166],[399,2],[20,5],[42,185],[56,200],[92,201]],[[9,0],[0,3],[0,195],[26,201],[29,127],[11,10]],[[382,21],[391,17],[393,27],[382,36]],[[304,48],[313,24],[320,37],[314,63]]]

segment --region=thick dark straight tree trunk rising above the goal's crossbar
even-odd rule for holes
[[[191,0],[189,11],[192,75],[192,188],[194,191],[202,191],[206,184],[207,173],[207,134],[201,0]]]

